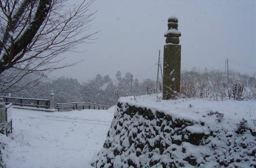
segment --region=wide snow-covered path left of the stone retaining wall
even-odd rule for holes
[[[9,148],[9,168],[87,168],[112,122],[109,110],[38,112],[13,110],[17,143]]]

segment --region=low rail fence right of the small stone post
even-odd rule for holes
[[[108,106],[95,103],[85,102],[72,102],[72,103],[57,103],[58,111],[71,111],[71,110],[83,110],[83,109],[95,109],[95,110],[108,110]]]

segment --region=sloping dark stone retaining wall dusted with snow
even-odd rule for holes
[[[92,166],[256,166],[255,130],[242,121],[226,126],[220,112],[208,111],[203,117],[204,122],[178,118],[171,112],[119,101],[104,146]],[[213,126],[210,121],[219,124]]]

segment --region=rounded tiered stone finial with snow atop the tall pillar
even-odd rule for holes
[[[179,44],[181,33],[178,30],[178,18],[175,16],[170,16],[168,18],[168,30],[164,33],[164,37],[166,37],[166,44]]]

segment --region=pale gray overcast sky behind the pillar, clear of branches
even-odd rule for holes
[[[76,0],[77,1],[77,0]],[[75,3],[75,0],[70,0]],[[256,66],[255,0],[96,0],[90,12],[98,10],[92,30],[95,44],[80,45],[65,53],[64,62],[84,59],[76,67],[57,70],[52,76],[87,81],[101,74],[113,79],[131,72],[135,78],[156,80],[158,50],[165,44],[167,18],[179,19],[182,36],[182,70],[198,66],[230,69],[253,74]]]

